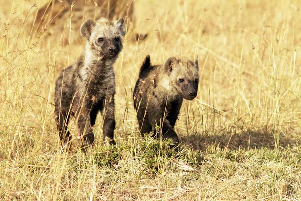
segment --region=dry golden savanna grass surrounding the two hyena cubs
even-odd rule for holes
[[[126,35],[114,65],[117,145],[103,143],[98,117],[86,155],[75,136],[60,152],[53,115],[55,80],[83,40],[31,37],[34,3],[1,1],[1,199],[301,200],[300,2],[135,1],[135,30],[148,37]],[[154,64],[199,55],[179,147],[138,134],[132,91],[147,54]]]

